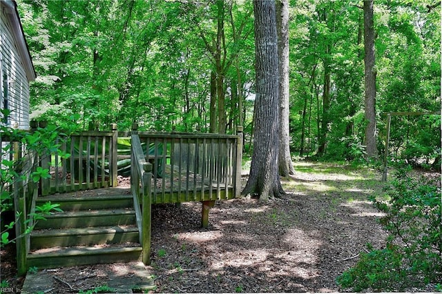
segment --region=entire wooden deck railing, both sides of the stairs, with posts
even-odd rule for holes
[[[41,150],[39,155],[26,154],[26,146],[4,135],[0,141],[13,145],[10,160],[26,157],[16,167],[21,180],[10,187],[15,195],[15,211],[22,212],[17,219],[18,235],[26,231],[25,224],[32,224],[32,219],[26,217],[35,212],[37,195],[117,186],[119,170],[130,168],[140,242],[146,248],[143,260],[147,260],[151,204],[201,201],[204,208],[205,202],[240,195],[241,127],[238,135],[146,133],[137,132],[135,124],[128,133],[118,132],[113,124],[109,132],[61,135],[53,142],[58,148]],[[38,167],[48,169],[50,177],[33,183],[30,174]],[[27,236],[17,242],[17,253],[24,256],[17,261],[24,260],[23,266],[28,251]]]

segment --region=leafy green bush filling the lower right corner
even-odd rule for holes
[[[442,281],[442,219],[439,179],[411,177],[401,169],[385,188],[387,200],[371,199],[385,213],[386,246],[361,253],[358,263],[337,279],[354,292],[407,291]],[[440,287],[439,287],[440,288]]]

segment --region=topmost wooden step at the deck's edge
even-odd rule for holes
[[[62,194],[50,195],[38,197],[36,205],[41,206],[46,202],[59,204],[59,208],[61,208],[62,210],[73,211],[133,207],[132,195],[94,195],[79,197],[65,197]]]

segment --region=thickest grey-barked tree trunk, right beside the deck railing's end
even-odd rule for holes
[[[284,193],[278,174],[279,70],[275,0],[253,1],[255,11],[256,101],[250,175],[242,194],[261,201]]]

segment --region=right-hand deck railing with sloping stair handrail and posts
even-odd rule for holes
[[[143,247],[150,263],[151,204],[199,201],[202,226],[215,200],[240,195],[242,128],[238,135],[131,134],[131,190]],[[141,204],[141,205],[140,205]]]

